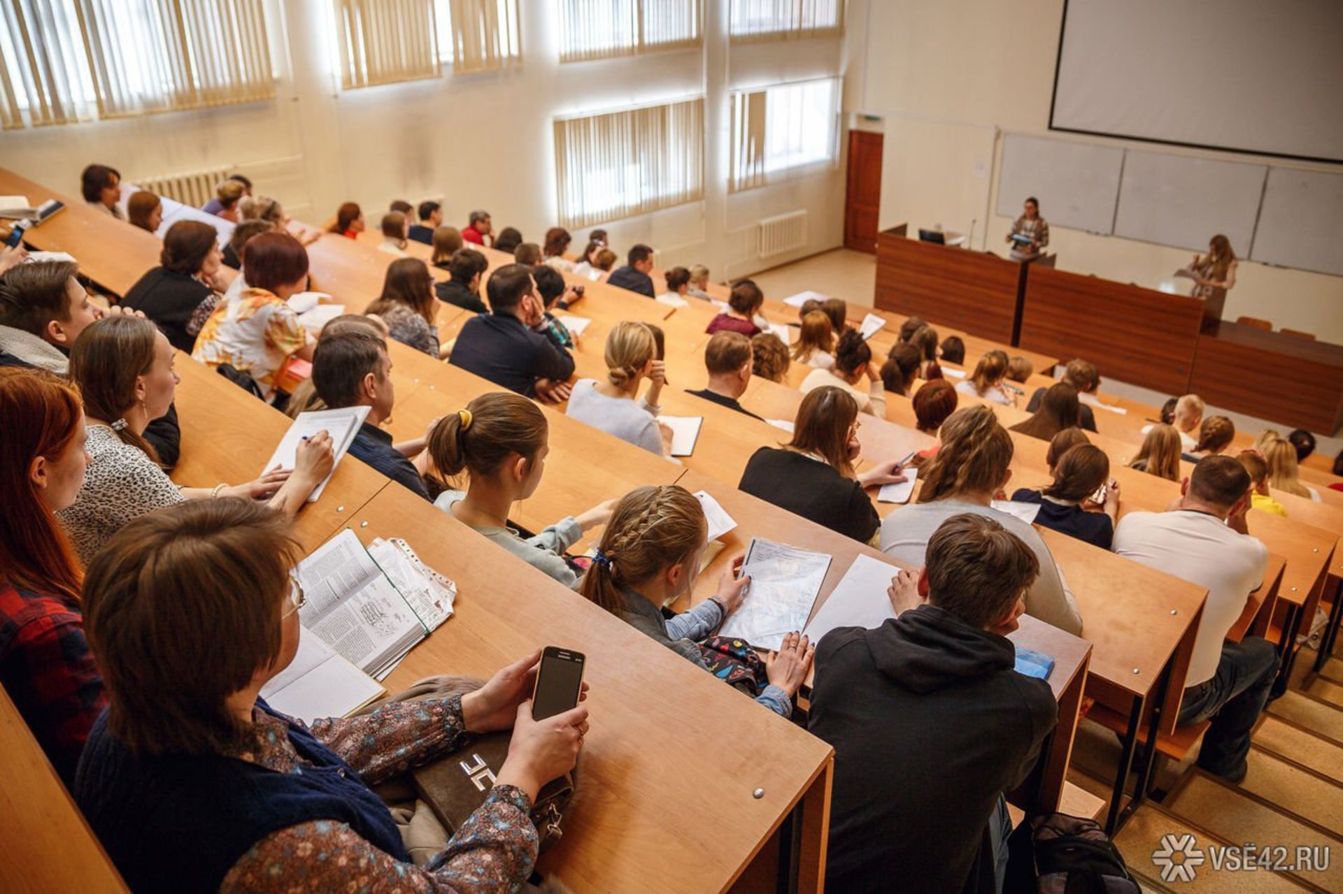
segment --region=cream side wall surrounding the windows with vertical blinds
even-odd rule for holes
[[[557,217],[551,119],[708,91],[705,200],[604,224],[618,251],[647,242],[665,264],[705,263],[716,279],[741,277],[838,246],[842,162],[795,180],[727,193],[728,97],[736,86],[843,71],[845,42],[752,44],[729,52],[727,4],[706,3],[706,48],[559,63],[556,4],[522,0],[520,68],[341,91],[329,3],[274,0],[273,42],[283,43],[274,102],[99,121],[0,134],[0,165],[77,192],[90,161],[128,180],[235,165],[297,219],[320,223],[345,200],[371,226],[391,199],[442,196],[446,221],[488,208],[496,227],[540,242]],[[287,35],[287,40],[285,39]],[[755,221],[807,208],[807,246],[760,260]],[[586,236],[575,234],[582,244]]]

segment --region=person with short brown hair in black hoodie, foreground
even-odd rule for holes
[[[951,515],[892,580],[894,619],[821,640],[807,729],[835,749],[827,890],[1002,890],[1003,796],[1058,714],[1006,638],[1038,573],[994,519]]]

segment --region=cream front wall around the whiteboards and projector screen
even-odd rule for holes
[[[862,46],[849,48],[845,106],[886,118],[882,227],[941,223],[964,231],[975,221],[976,247],[1006,251],[1011,220],[992,213],[1002,132],[1049,134],[1061,16],[1062,0],[850,0],[850,42]],[[1236,114],[1234,103],[1226,114]],[[1136,141],[1097,141],[1154,149]],[[1048,219],[1049,209],[1042,212]],[[1061,227],[1050,227],[1050,239],[1058,267],[1120,282],[1156,286],[1189,262],[1183,250]],[[1223,313],[1230,319],[1262,317],[1279,328],[1343,342],[1343,278],[1242,260]]]

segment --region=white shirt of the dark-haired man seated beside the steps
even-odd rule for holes
[[[1264,583],[1268,548],[1207,513],[1128,513],[1115,528],[1115,553],[1135,562],[1207,587],[1207,604],[1194,638],[1186,686],[1217,674],[1222,640],[1245,611],[1250,591]]]

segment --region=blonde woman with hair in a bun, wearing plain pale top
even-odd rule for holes
[[[653,332],[641,322],[618,322],[606,337],[606,366],[607,381],[573,383],[564,415],[658,456],[670,456],[672,430],[657,419],[666,364],[657,358]],[[649,393],[639,397],[645,379]]]

